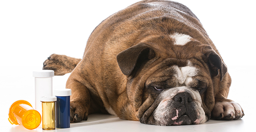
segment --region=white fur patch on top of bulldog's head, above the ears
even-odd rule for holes
[[[174,45],[180,45],[180,46],[186,45],[192,39],[192,37],[189,35],[179,34],[179,33],[174,33],[170,35],[170,37],[174,39],[173,41]]]

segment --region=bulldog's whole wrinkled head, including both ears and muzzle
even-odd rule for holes
[[[211,46],[176,35],[176,40],[162,37],[117,55],[121,71],[128,76],[128,98],[142,123],[186,125],[210,118],[213,78],[221,81],[227,68]]]

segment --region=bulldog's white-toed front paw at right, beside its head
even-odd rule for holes
[[[216,120],[237,120],[245,115],[240,105],[233,101],[216,102],[212,114]]]

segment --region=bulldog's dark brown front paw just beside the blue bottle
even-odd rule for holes
[[[88,110],[80,102],[70,102],[70,122],[80,122],[88,119]]]

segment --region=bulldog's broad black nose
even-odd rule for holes
[[[193,98],[187,92],[178,93],[176,96],[173,97],[173,100],[176,102],[180,102],[183,105],[186,105],[193,101]]]

